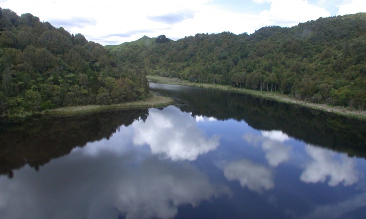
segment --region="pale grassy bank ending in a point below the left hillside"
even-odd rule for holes
[[[143,100],[137,100],[132,102],[124,102],[110,105],[81,105],[81,106],[68,106],[50,110],[44,110],[41,114],[47,115],[68,115],[68,114],[81,114],[98,112],[105,110],[115,109],[137,109],[137,108],[151,108],[167,106],[174,102],[172,98],[166,96],[152,95],[151,97]]]

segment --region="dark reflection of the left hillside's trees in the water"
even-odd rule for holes
[[[76,146],[108,139],[119,126],[128,126],[136,119],[145,121],[147,116],[148,109],[137,109],[2,123],[0,174],[13,177],[12,170],[27,163],[38,170]]]

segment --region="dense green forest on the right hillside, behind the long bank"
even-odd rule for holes
[[[107,48],[122,63],[142,65],[150,74],[365,109],[366,13],[319,18],[290,28],[266,26],[250,35],[164,38],[146,44],[145,36],[128,46]]]

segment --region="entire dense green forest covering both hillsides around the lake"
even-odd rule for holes
[[[250,35],[144,36],[104,47],[0,8],[0,115],[143,99],[146,73],[364,110],[365,31],[366,13],[357,13]]]

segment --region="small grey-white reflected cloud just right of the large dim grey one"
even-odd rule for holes
[[[224,166],[224,175],[230,180],[239,180],[249,190],[262,192],[274,188],[273,175],[269,168],[241,159]]]

